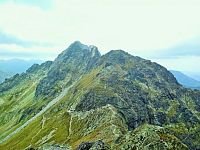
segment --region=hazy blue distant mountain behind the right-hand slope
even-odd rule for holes
[[[187,88],[200,89],[200,81],[195,80],[192,77],[189,77],[180,71],[170,70],[170,72],[175,76],[177,81],[183,86]]]

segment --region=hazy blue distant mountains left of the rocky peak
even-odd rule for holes
[[[25,72],[33,64],[41,64],[41,60],[21,60],[21,59],[11,59],[11,60],[0,60],[0,70],[3,72],[11,73],[22,73]]]

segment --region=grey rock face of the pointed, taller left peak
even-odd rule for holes
[[[99,58],[96,47],[89,47],[79,41],[72,43],[55,59],[47,76],[38,84],[35,96],[55,97],[67,84],[90,71]],[[64,83],[58,84],[63,80]]]

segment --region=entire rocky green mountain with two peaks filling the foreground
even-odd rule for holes
[[[200,91],[161,65],[72,43],[0,84],[1,150],[198,150]]]

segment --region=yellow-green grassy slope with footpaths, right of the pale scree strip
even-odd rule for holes
[[[68,106],[73,107],[74,102],[76,102],[75,100],[79,99],[82,90],[84,88],[89,88],[95,83],[93,79],[97,72],[98,70],[94,70],[90,75],[86,75],[86,77],[77,84],[76,94],[72,93],[75,90],[72,89],[60,103],[32,122],[5,144],[1,145],[0,149],[23,149],[29,146],[38,147],[46,142],[59,144],[69,143],[72,148],[75,148],[81,142],[86,142],[88,140],[93,141],[99,138],[105,138],[107,142],[110,142],[111,139],[114,139],[115,133],[114,131],[112,132],[112,130],[117,128],[114,124],[120,125],[122,128],[124,128],[124,125],[122,125],[121,119],[115,116],[117,113],[111,106],[85,113],[69,113],[67,111],[67,109],[69,109]],[[70,101],[68,101],[69,98]],[[107,114],[112,113],[114,114],[107,116]],[[70,121],[72,123],[71,127],[69,127]],[[111,125],[112,122],[114,128],[113,125]],[[102,128],[105,130],[102,131]],[[110,136],[108,136],[107,133]],[[26,138],[26,140],[22,140],[24,138]]]

